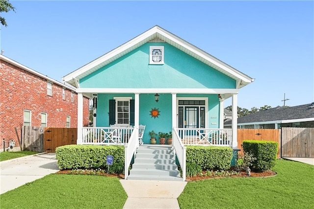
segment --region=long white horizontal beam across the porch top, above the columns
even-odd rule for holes
[[[158,94],[237,94],[238,89],[207,89],[207,88],[78,88],[78,93],[158,93]]]

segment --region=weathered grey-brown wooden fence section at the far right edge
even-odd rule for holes
[[[314,157],[314,128],[282,128],[282,157]]]

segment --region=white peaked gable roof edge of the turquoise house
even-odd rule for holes
[[[178,36],[168,32],[167,30],[154,26],[147,30],[146,32],[138,35],[137,37],[131,39],[127,43],[117,47],[116,49],[105,53],[99,58],[91,61],[90,63],[78,68],[72,73],[63,77],[65,82],[70,83],[78,87],[78,80],[88,76],[89,74],[97,71],[98,69],[104,67],[105,65],[111,63],[112,61],[118,59],[119,57],[131,52],[132,50],[146,44],[147,42],[158,39],[160,41],[166,42],[173,47],[193,56],[194,58],[204,62],[210,67],[220,71],[221,73],[236,80],[236,88],[241,88],[254,81],[254,78],[239,72],[235,68],[227,65],[226,63],[220,61],[219,59],[213,57],[207,52],[195,47],[194,45],[184,41]]]

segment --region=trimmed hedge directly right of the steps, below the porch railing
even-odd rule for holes
[[[231,147],[186,146],[186,163],[196,163],[202,169],[229,169],[233,156]]]

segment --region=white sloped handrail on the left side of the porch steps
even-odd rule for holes
[[[124,179],[128,179],[129,176],[129,166],[131,164],[132,157],[135,157],[136,147],[139,146],[138,142],[138,128],[134,127],[130,139],[125,145],[125,160],[124,160]]]

